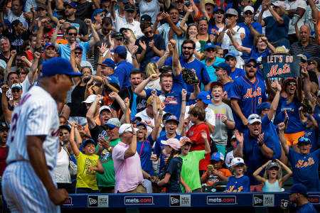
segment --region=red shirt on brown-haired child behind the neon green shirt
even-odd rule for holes
[[[205,142],[203,141],[203,138],[201,137],[202,130],[205,130],[207,132],[207,138],[208,138],[208,141],[210,141],[210,133],[209,133],[208,126],[205,123],[202,123],[199,125],[193,124],[188,130],[188,132],[186,133],[186,136],[190,138],[191,141],[193,141],[190,151],[205,150],[206,145],[205,145]],[[199,170],[208,170],[209,164],[210,164],[210,154],[207,154],[203,160],[200,160]]]

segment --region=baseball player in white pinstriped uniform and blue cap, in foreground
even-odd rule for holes
[[[41,79],[14,108],[7,140],[8,166],[2,177],[2,191],[11,212],[60,212],[58,205],[68,198],[57,189],[51,170],[58,153],[58,103],[73,86],[75,72],[68,60],[43,62]]]

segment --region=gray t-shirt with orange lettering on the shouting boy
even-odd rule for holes
[[[225,115],[228,117],[229,121],[235,122],[233,119],[233,112],[225,103],[219,105],[209,104],[208,108],[215,112],[215,131],[210,134],[210,137],[217,145],[226,146],[228,141],[228,128],[227,125],[221,121],[221,117],[222,115]]]

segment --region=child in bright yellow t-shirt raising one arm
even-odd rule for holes
[[[73,122],[71,133],[75,131],[76,125]],[[78,141],[81,143],[82,141]],[[95,155],[95,141],[92,139],[87,139],[82,143],[82,151],[80,152],[77,144],[75,144],[75,138],[70,137],[70,145],[75,153],[75,160],[77,160],[78,175],[77,175],[77,185],[76,193],[99,193],[97,187],[97,173],[103,174],[104,169],[99,160],[99,156]]]

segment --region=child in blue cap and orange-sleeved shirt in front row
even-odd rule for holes
[[[223,153],[213,153],[211,155],[210,163],[213,168],[206,171],[201,177],[201,183],[205,183],[207,186],[213,185],[218,181],[228,181],[229,177],[232,176],[230,170],[226,168],[225,161],[223,160]]]

